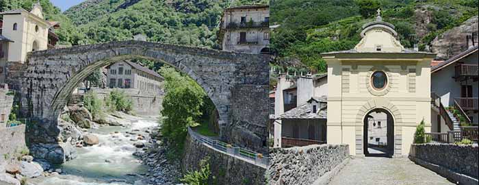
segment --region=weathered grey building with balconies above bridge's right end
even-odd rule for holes
[[[270,6],[244,5],[224,10],[218,42],[223,51],[270,53]]]

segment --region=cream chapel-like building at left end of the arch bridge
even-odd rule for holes
[[[3,84],[7,62],[23,64],[28,52],[55,48],[58,36],[53,30],[60,27],[60,23],[45,20],[38,3],[34,3],[30,12],[8,10],[0,15],[3,16],[0,21],[0,84]]]

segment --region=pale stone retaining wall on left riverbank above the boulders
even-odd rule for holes
[[[15,157],[15,153],[27,148],[25,125],[0,128],[0,164]]]

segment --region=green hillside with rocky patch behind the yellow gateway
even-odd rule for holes
[[[281,25],[272,34],[275,63],[296,66],[292,71],[326,71],[320,53],[352,49],[378,8],[404,47],[431,51],[437,36],[478,15],[478,0],[273,0],[272,24]]]

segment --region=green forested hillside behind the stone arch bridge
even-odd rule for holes
[[[229,3],[231,0],[89,0],[64,14],[88,43],[144,34],[154,42],[217,48],[216,27]],[[252,3],[268,1],[235,1],[233,5]]]

